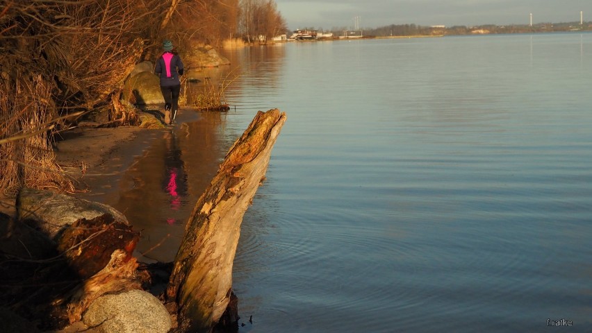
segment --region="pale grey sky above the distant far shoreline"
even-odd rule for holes
[[[476,26],[592,21],[592,0],[276,0],[288,28]]]

